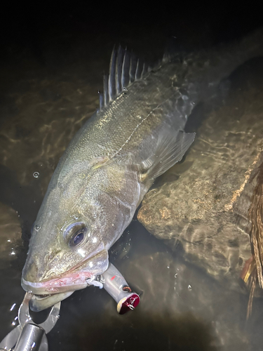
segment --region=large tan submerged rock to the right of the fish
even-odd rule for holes
[[[231,288],[251,257],[248,210],[263,161],[262,67],[263,60],[250,60],[229,77],[224,105],[208,114],[185,160],[144,197],[137,215]]]

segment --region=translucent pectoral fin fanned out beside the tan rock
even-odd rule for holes
[[[165,173],[170,167],[181,161],[185,152],[194,141],[196,133],[184,133],[183,131],[170,131],[159,138],[154,155],[144,161],[149,166],[146,173],[140,176],[140,180],[154,179]]]

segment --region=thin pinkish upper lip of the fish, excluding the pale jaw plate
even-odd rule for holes
[[[108,251],[106,249],[100,251],[105,251],[108,257],[108,265],[109,265],[109,256]],[[69,291],[76,291],[80,289],[85,289],[88,286],[86,279],[93,277],[94,275],[102,274],[103,272],[99,272],[97,274],[93,274],[90,271],[79,271],[80,267],[85,267],[85,263],[88,262],[91,258],[97,256],[97,252],[88,256],[85,260],[83,260],[78,265],[72,267],[65,274],[60,277],[56,277],[53,279],[49,279],[43,282],[29,282],[25,280],[23,277],[21,278],[21,285],[25,291],[32,291],[34,295],[54,295],[56,293],[65,293]],[[77,270],[76,272],[74,272]],[[106,269],[107,270],[107,267]],[[104,270],[104,271],[105,271]],[[71,274],[74,272],[73,274]]]

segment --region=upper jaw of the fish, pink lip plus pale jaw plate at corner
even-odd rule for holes
[[[91,268],[90,268],[91,263]],[[60,277],[48,279],[43,282],[29,282],[22,277],[21,285],[25,291],[32,291],[39,298],[46,298],[58,293],[74,292],[85,289],[88,286],[88,278],[102,274],[109,265],[109,255],[107,250],[100,251],[95,256],[86,258],[81,265],[72,267]]]

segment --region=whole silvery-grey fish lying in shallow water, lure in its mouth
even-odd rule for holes
[[[166,53],[153,68],[114,48],[100,108],[62,155],[32,228],[21,284],[34,293],[34,310],[86,288],[107,270],[108,251],[144,194],[194,142],[195,133],[184,131],[194,107],[262,53],[261,43],[260,29],[216,50]]]

